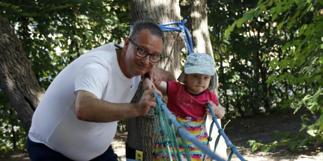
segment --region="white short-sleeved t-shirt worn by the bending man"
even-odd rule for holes
[[[117,130],[117,121],[79,120],[75,99],[79,90],[111,103],[130,103],[140,76],[126,77],[118,64],[115,43],[95,48],[75,59],[48,87],[29,130],[29,138],[73,160],[90,160],[102,154]]]

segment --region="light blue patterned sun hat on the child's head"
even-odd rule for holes
[[[186,74],[214,75],[216,73],[214,68],[212,57],[205,53],[189,54],[184,64],[184,72]]]

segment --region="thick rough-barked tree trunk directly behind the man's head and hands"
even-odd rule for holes
[[[143,1],[133,0],[131,2],[132,22],[138,20],[152,21],[158,24],[164,24],[174,21],[180,21],[179,1],[158,0]],[[180,74],[180,52],[184,47],[182,34],[178,32],[165,32],[166,44],[164,44],[163,55],[166,56],[156,66],[171,71],[175,76]],[[138,102],[142,95],[142,87],[133,98],[132,102]],[[153,148],[156,139],[155,121],[153,110],[150,110],[145,116],[127,120],[127,145],[129,147],[143,151],[144,160],[153,159]]]

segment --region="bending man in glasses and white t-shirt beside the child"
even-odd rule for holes
[[[31,160],[117,160],[111,147],[117,121],[145,115],[155,106],[144,91],[130,104],[140,76],[156,85],[175,80],[154,65],[162,58],[164,34],[158,25],[137,22],[124,47],[109,43],[83,54],[48,87],[29,130],[27,149]]]

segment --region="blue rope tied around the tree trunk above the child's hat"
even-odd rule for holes
[[[184,25],[186,22],[187,20],[184,19],[182,22],[175,21],[175,22],[170,22],[166,24],[159,24],[159,27],[163,31],[181,31],[183,33],[183,36],[186,42],[188,54],[191,54],[193,53],[193,42],[192,42],[192,36],[190,34],[190,31]],[[169,27],[169,25],[178,25],[178,27]],[[188,40],[187,40],[187,37],[188,37]]]

